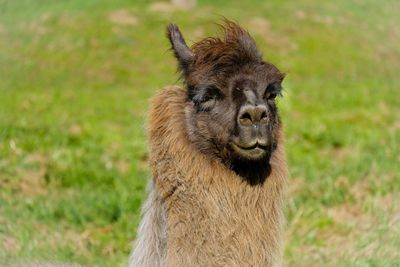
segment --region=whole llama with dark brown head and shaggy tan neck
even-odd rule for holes
[[[151,103],[154,178],[130,267],[281,265],[283,74],[248,32],[230,21],[223,30],[190,49],[167,29],[185,88]]]

